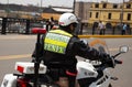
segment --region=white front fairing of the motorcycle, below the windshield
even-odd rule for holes
[[[87,79],[87,81],[90,80],[90,78],[95,78],[95,81],[92,81],[88,87],[108,87],[111,81],[111,76],[109,74],[109,69],[106,68],[103,70],[102,76],[98,76],[99,73],[94,67],[94,65],[89,62],[78,62],[77,63],[77,79]],[[87,84],[86,84],[87,85]]]

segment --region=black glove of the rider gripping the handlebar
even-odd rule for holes
[[[101,53],[100,58],[102,64],[106,64],[109,67],[114,67],[114,59],[107,53]]]

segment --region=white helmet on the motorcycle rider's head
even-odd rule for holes
[[[69,25],[70,23],[78,23],[77,18],[73,13],[64,13],[59,17],[58,24],[62,26]]]

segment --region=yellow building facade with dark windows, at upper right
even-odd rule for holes
[[[124,3],[92,3],[89,10],[88,23],[102,21],[111,25],[127,23],[132,26],[132,2]]]

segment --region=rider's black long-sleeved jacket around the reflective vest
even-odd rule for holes
[[[63,30],[52,30],[52,31],[63,31]],[[59,33],[57,34],[59,35]],[[99,58],[99,52],[97,50],[89,47],[88,44],[85,44],[82,41],[80,41],[78,36],[70,34],[69,34],[70,39],[67,43],[65,53],[58,53],[46,48],[44,50],[46,35],[42,40],[43,42],[42,42],[42,50],[40,57],[42,57],[44,64],[47,65],[47,67],[66,66],[67,68],[72,68],[72,67],[76,68],[76,63],[77,63],[76,55],[89,59]],[[35,56],[35,53],[33,54],[33,56]]]

